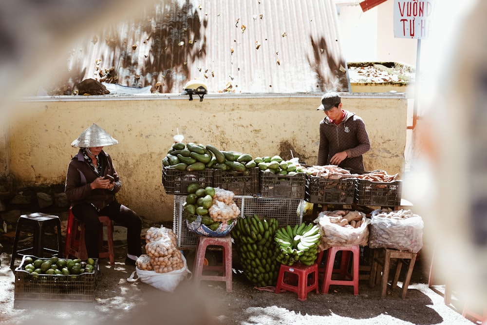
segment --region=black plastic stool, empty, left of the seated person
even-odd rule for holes
[[[26,249],[19,249],[20,233],[25,230],[25,227],[32,226],[34,228],[34,242],[33,247]],[[48,249],[44,247],[44,230],[46,227],[57,227],[57,250]],[[31,213],[22,214],[17,222],[17,229],[15,230],[14,247],[12,249],[12,259],[10,260],[10,268],[14,270],[15,259],[18,255],[34,255],[36,257],[45,257],[44,253],[49,254],[49,257],[61,254],[61,219],[57,215],[45,213]]]

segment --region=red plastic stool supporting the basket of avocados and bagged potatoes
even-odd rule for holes
[[[208,246],[220,246],[223,249],[222,265],[205,265],[205,254]],[[223,271],[224,275],[203,275],[203,271]],[[232,237],[206,237],[200,236],[196,245],[196,256],[194,259],[194,281],[197,285],[202,280],[224,281],[226,291],[232,291]]]

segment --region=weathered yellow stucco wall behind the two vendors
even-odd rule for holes
[[[344,109],[361,116],[371,139],[366,170],[402,172],[406,142],[405,94],[343,94]],[[122,180],[118,199],[149,220],[173,218],[173,196],[161,184],[162,158],[179,130],[184,142],[212,144],[254,156],[289,154],[315,164],[316,95],[85,96],[26,98],[10,112],[10,172],[24,186],[64,184],[77,152],[71,142],[96,123],[119,141],[106,147]],[[283,157],[285,158],[285,157]]]

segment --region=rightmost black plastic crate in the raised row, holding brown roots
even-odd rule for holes
[[[367,179],[357,180],[358,205],[397,207],[401,205],[402,181],[388,183],[373,182]]]

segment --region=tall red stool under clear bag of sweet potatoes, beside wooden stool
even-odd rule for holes
[[[322,294],[327,294],[330,289],[330,285],[337,286],[353,286],[354,295],[358,295],[358,279],[360,274],[358,273],[360,248],[358,245],[355,246],[337,246],[330,247],[327,251],[326,264],[325,267],[320,267],[319,270],[324,270],[323,287],[321,288]],[[334,268],[335,256],[338,251],[342,252],[340,268]],[[321,260],[323,258],[324,251],[320,251],[318,254],[318,265],[321,266]],[[350,263],[350,254],[353,254],[353,271],[350,273],[348,271]],[[337,280],[332,279],[333,274],[338,273],[339,277]],[[347,278],[351,280],[347,280]]]

